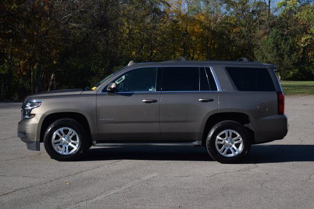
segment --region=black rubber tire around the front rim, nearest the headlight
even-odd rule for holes
[[[52,135],[56,130],[62,127],[69,127],[75,130],[79,137],[78,149],[69,155],[62,155],[55,151],[52,147]],[[86,129],[77,120],[71,118],[62,118],[54,121],[47,128],[44,135],[44,146],[52,159],[57,161],[76,161],[91,146],[91,139],[87,134]]]

